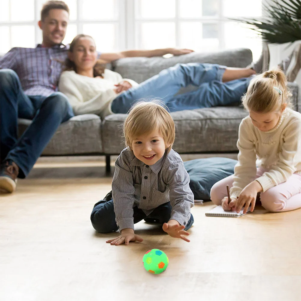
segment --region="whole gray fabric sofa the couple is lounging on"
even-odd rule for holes
[[[216,53],[191,53],[179,57],[133,57],[113,62],[108,67],[123,78],[140,83],[176,63],[212,63],[228,67],[246,67],[252,62],[250,49],[239,48]],[[294,109],[301,112],[298,85],[289,83]],[[180,93],[195,89],[186,87]],[[238,126],[246,111],[238,104],[171,113],[176,126],[174,150],[179,154],[237,152]],[[101,120],[94,114],[75,116],[63,123],[43,151],[43,156],[104,155],[107,171],[110,156],[123,149],[122,124],[126,114],[113,114]],[[30,120],[19,119],[21,134]]]

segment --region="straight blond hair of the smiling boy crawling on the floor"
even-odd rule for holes
[[[139,136],[158,130],[169,152],[175,141],[175,123],[159,101],[140,101],[135,104],[123,124],[126,146],[132,148],[132,141]]]

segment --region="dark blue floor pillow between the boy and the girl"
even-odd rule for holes
[[[237,160],[213,157],[184,162],[190,177],[190,189],[195,200],[210,200],[212,186],[223,178],[233,175]]]

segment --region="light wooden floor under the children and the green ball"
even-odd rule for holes
[[[43,164],[1,195],[1,301],[301,300],[300,209],[218,218],[196,204],[190,243],[140,222],[142,243],[111,246],[89,219],[110,190],[103,164]],[[160,275],[142,265],[152,248],[169,257]]]

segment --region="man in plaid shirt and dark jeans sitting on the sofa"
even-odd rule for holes
[[[13,192],[17,178],[25,178],[61,123],[73,115],[67,97],[57,92],[68,47],[62,44],[69,21],[63,1],[43,5],[39,27],[43,41],[36,48],[12,48],[0,60],[0,188]],[[103,53],[109,63],[123,57],[181,55],[189,49],[165,48]],[[18,138],[17,119],[32,119]]]

